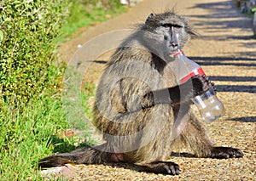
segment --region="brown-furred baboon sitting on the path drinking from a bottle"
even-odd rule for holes
[[[187,18],[172,11],[150,14],[115,51],[96,89],[93,123],[106,143],[49,156],[41,167],[129,162],[142,171],[176,175],[166,161],[181,145],[197,157],[243,156],[241,150],[216,147],[190,107],[191,99],[211,88],[205,77],[178,83],[173,56],[197,33]]]

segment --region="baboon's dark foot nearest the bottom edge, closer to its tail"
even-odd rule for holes
[[[170,175],[178,175],[180,173],[178,165],[171,161],[155,161],[142,167],[143,171],[150,173],[164,173]]]

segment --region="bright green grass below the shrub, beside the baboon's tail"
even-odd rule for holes
[[[84,88],[83,102],[87,115],[91,114],[86,103],[94,93],[94,85]],[[43,96],[32,99],[26,106],[15,110],[3,105],[0,117],[0,176],[1,180],[44,180],[38,174],[38,160],[55,152],[67,152],[79,146],[94,144],[86,132],[86,143],[78,137],[60,138],[60,133],[70,128],[63,112],[60,98]],[[4,111],[5,110],[5,111]],[[5,112],[5,114],[3,114]],[[88,139],[89,138],[89,139]]]

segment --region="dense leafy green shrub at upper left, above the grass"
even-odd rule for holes
[[[27,101],[54,86],[53,40],[67,4],[68,0],[0,3],[0,90],[5,101]]]

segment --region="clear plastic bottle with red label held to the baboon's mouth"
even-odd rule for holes
[[[177,71],[177,76],[181,83],[187,82],[190,77],[195,75],[207,78],[201,66],[187,58],[181,50],[178,50],[174,56],[178,59],[177,64],[180,68]],[[205,122],[213,122],[218,117],[224,115],[224,105],[218,100],[213,88],[210,88],[206,93],[196,96],[193,102],[198,107],[201,117]]]

